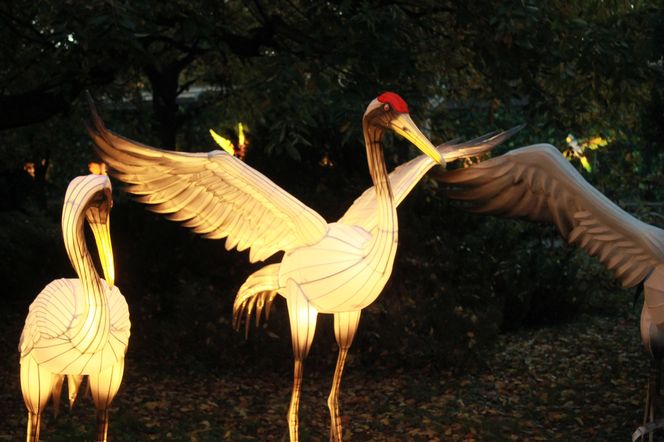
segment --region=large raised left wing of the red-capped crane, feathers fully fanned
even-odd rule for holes
[[[150,210],[206,238],[226,237],[228,250],[250,248],[251,262],[314,244],[325,234],[327,223],[318,213],[226,152],[149,147],[109,131],[92,112],[88,132],[97,153]]]

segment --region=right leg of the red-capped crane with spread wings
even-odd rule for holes
[[[360,323],[361,310],[354,312],[343,312],[334,314],[334,337],[339,345],[339,357],[334,369],[332,389],[327,398],[327,407],[330,409],[330,441],[341,442],[343,431],[341,428],[341,415],[339,413],[339,387],[341,386],[341,375],[346,363],[348,349],[353,343],[355,332]]]

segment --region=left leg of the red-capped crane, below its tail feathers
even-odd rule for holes
[[[298,440],[298,409],[300,406],[300,390],[302,385],[302,363],[309,353],[316,332],[318,312],[300,290],[297,283],[290,280],[286,285],[286,302],[291,327],[291,341],[295,365],[293,369],[293,392],[288,407],[288,433],[291,442]]]

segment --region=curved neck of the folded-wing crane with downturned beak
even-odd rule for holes
[[[63,210],[65,248],[83,287],[83,311],[78,318],[74,318],[70,336],[72,344],[81,353],[88,353],[97,351],[106,342],[110,314],[102,280],[95,270],[85,241],[84,221],[84,208],[72,205]]]

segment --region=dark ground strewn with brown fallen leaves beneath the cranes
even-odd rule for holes
[[[15,350],[21,324],[10,319],[0,334],[6,355],[0,366],[0,440],[18,441],[26,417]],[[187,373],[168,356],[153,357],[149,366],[140,357],[128,353],[111,411],[111,441],[287,440],[290,371],[235,366],[223,373]],[[380,363],[364,369],[351,356],[341,396],[345,440],[626,441],[640,423],[649,361],[633,312],[581,315],[562,325],[503,334],[483,360],[456,373],[433,365],[387,371]],[[333,366],[309,368],[301,439],[327,440]],[[90,440],[90,397],[79,398],[73,411],[66,408],[57,420],[47,410],[43,440]]]

